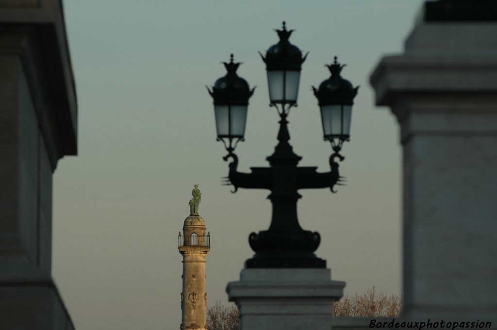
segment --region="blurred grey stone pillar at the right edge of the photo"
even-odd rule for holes
[[[470,2],[427,2],[371,84],[403,145],[404,316],[496,324],[496,6]]]

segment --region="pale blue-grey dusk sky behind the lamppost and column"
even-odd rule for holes
[[[380,58],[402,51],[420,0],[164,1],[65,0],[79,105],[79,155],[54,176],[53,276],[78,330],[164,330],[181,323],[177,233],[194,184],[211,233],[209,305],[221,300],[253,254],[248,234],[267,229],[268,191],[231,194],[226,151],[216,142],[205,85],[238,73],[256,85],[248,107],[239,170],[267,166],[278,116],[269,108],[264,53],[286,20],[290,41],[310,54],[299,107],[289,116],[300,166],[329,171],[311,85],[342,75],[360,85],[340,174],[347,186],[303,190],[299,221],[319,231],[317,251],[345,293],[373,285],[401,294],[401,148],[387,108],[374,105],[369,74]]]

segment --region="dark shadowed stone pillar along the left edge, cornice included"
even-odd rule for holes
[[[51,277],[52,174],[77,153],[62,4],[0,0],[0,329],[73,329]]]

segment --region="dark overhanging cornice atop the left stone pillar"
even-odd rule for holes
[[[0,53],[20,58],[55,170],[60,158],[77,154],[76,88],[62,2],[3,2],[0,1]]]

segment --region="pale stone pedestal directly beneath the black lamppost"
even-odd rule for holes
[[[325,268],[246,268],[226,288],[242,330],[330,330],[333,302],[345,282]]]

